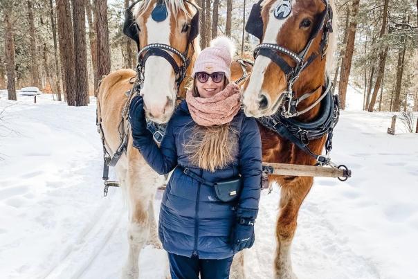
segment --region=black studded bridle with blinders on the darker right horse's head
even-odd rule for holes
[[[247,24],[245,26],[245,30],[254,35],[258,39],[260,39],[260,44],[255,47],[254,49],[254,59],[257,58],[258,55],[262,55],[264,57],[268,57],[271,59],[275,64],[277,64],[280,69],[284,72],[287,78],[287,85],[288,91],[285,93],[284,98],[279,98],[278,102],[287,101],[291,104],[294,93],[292,90],[293,84],[299,78],[300,73],[309,66],[316,58],[318,54],[320,54],[321,59],[325,56],[328,46],[328,38],[329,33],[332,30],[332,8],[329,5],[329,0],[322,0],[325,4],[325,10],[322,11],[320,15],[320,21],[316,24],[311,36],[309,37],[309,41],[307,42],[305,48],[303,48],[300,53],[295,53],[284,46],[280,46],[278,44],[263,44],[262,37],[264,32],[264,24],[262,19],[262,6],[261,3],[264,0],[258,1],[258,3],[253,4],[253,8],[251,9],[250,16],[248,17]],[[282,7],[285,4],[284,7]],[[277,19],[284,19],[287,17],[291,10],[291,1],[284,1],[284,3],[280,3],[278,7],[275,8],[275,17]],[[289,9],[289,10],[287,10]],[[287,12],[283,12],[283,10],[287,10]],[[283,15],[284,13],[284,15]],[[314,39],[320,33],[320,30],[323,30],[322,39],[320,42],[320,47],[318,53],[314,52],[309,57],[307,57],[307,53],[309,53],[309,49],[311,48]],[[296,62],[296,66],[292,67],[287,63],[280,54],[287,55],[290,57],[294,62]],[[274,107],[278,105],[275,104]],[[291,106],[289,105],[286,109],[284,105],[282,105],[282,116],[289,118],[295,116],[294,113],[291,111]]]

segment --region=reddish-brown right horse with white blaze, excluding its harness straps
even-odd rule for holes
[[[293,89],[293,98],[311,93],[306,95],[307,98],[300,99],[297,109],[302,111],[311,105],[313,108],[299,116],[293,115],[296,120],[309,123],[320,114],[321,102],[318,105],[315,105],[315,102],[325,91],[327,69],[331,66],[333,55],[331,46],[334,41],[331,34],[336,32],[329,33],[332,21],[329,20],[329,14],[325,15],[325,13],[326,9],[334,8],[334,5],[325,0],[264,0],[258,4],[261,4],[258,6],[260,8],[258,19],[257,17],[253,17],[252,21],[248,19],[248,24],[253,24],[250,26],[253,28],[252,32],[260,38],[261,44],[256,48],[258,52],[255,53],[256,59],[251,77],[244,84],[243,104],[246,115],[257,118],[263,116],[265,119],[281,112],[286,115],[289,111],[282,110],[283,101],[287,93]],[[325,21],[323,26],[322,21]],[[254,30],[257,26],[260,29]],[[328,30],[325,31],[325,28]],[[326,46],[321,48],[322,38],[325,38],[325,35],[330,35],[329,42],[327,41],[328,49]],[[305,65],[306,67],[299,68],[302,70],[298,75],[293,75],[298,70],[297,66],[304,63],[304,61],[295,61],[303,56],[304,50],[305,62],[308,57],[312,57],[313,61]],[[291,57],[294,54],[298,57]],[[293,69],[293,73],[289,69]],[[260,125],[260,132],[263,161],[298,165],[316,163],[313,156],[302,151],[284,136],[264,125]],[[326,138],[325,135],[310,141],[309,150],[321,154]],[[314,179],[270,176],[269,183],[273,181],[281,186],[274,278],[296,278],[291,266],[291,242],[296,231],[299,208]]]

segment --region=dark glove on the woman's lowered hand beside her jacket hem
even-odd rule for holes
[[[231,235],[234,253],[253,246],[255,240],[254,223],[254,219],[237,218]]]

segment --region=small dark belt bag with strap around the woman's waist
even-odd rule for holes
[[[182,168],[182,167],[179,167],[179,168]],[[182,169],[183,169],[183,173],[188,175],[189,177],[192,177],[192,179],[195,179],[206,186],[212,186],[215,190],[214,191],[215,195],[217,199],[219,199],[219,201],[224,201],[224,202],[235,201],[235,199],[238,199],[239,194],[241,193],[242,177],[236,177],[233,179],[211,183],[199,177],[199,175],[195,174],[188,168],[182,168]]]

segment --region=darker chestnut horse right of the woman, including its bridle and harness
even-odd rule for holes
[[[327,78],[336,36],[332,10],[328,0],[260,0],[253,6],[246,30],[260,45],[243,105],[259,120],[264,162],[329,163],[321,152],[331,149],[339,109]],[[273,181],[281,187],[274,278],[296,278],[291,242],[313,178],[270,176]]]

